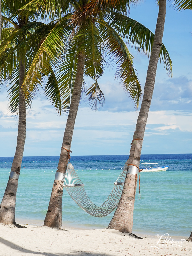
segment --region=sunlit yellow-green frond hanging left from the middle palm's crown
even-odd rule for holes
[[[45,72],[45,74],[51,72],[51,70],[49,70],[50,65],[47,64],[47,58],[51,61],[56,61],[57,58],[60,57],[61,52],[65,48],[65,42],[71,32],[70,28],[67,27],[67,25],[68,20],[64,18],[62,22],[57,22],[55,24],[50,23],[45,26],[45,30],[43,31],[43,33],[41,33],[41,41],[37,45],[37,51],[35,51],[35,54],[33,55],[33,60],[30,64],[29,70],[23,83],[23,87],[25,87],[24,91],[26,93],[30,87],[30,84],[33,84],[33,80],[40,79],[41,75],[39,73],[39,70],[41,70],[42,73]],[[65,27],[66,32],[63,32],[63,29]],[[27,38],[27,45],[29,48],[31,44],[33,44],[33,40],[36,42],[37,35],[38,30],[36,31],[36,33],[33,33]],[[39,77],[37,77],[37,74],[39,74]]]

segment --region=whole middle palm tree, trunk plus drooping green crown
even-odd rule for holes
[[[132,56],[120,36],[122,31],[120,30],[120,33],[118,33],[119,28],[114,29],[115,24],[113,21],[111,24],[107,22],[112,17],[117,17],[121,12],[125,12],[126,7],[129,7],[128,2],[122,7],[120,5],[116,6],[113,1],[102,1],[102,4],[99,4],[99,1],[79,1],[73,2],[71,5],[72,12],[69,14],[69,19],[70,24],[73,26],[73,33],[70,36],[64,59],[58,65],[59,71],[57,75],[60,88],[68,88],[63,94],[63,110],[69,112],[69,114],[48,211],[44,221],[44,226],[57,228],[61,228],[62,225],[63,188],[61,177],[63,177],[67,168],[75,119],[83,90],[84,74],[94,80],[94,83],[86,92],[87,102],[93,109],[97,108],[98,103],[102,105],[104,102],[104,95],[97,83],[99,77],[104,73],[104,54],[109,56],[112,64],[114,62],[118,64],[116,75],[125,90],[129,92],[131,98],[135,101],[136,106],[141,97],[140,83],[132,64]],[[129,19],[128,17],[126,18]],[[128,42],[135,43],[136,48],[141,51],[149,52],[151,50],[153,34],[147,28],[131,19],[129,19],[129,24],[126,28],[127,33],[130,34],[129,38],[127,37]],[[142,36],[137,34],[138,31],[142,31]],[[166,49],[160,47],[160,50],[162,60],[170,67],[171,61]],[[29,75],[29,77],[31,76]],[[27,79],[29,78],[26,78],[26,81]],[[58,174],[60,178],[58,178]]]

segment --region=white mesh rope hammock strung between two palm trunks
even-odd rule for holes
[[[107,197],[106,201],[101,204],[100,207],[95,205],[89,196],[87,195],[84,184],[79,179],[77,172],[74,170],[73,165],[69,162],[67,165],[67,170],[65,176],[63,176],[61,186],[63,186],[72,199],[87,213],[95,217],[104,217],[112,212],[119,203],[119,199],[122,194],[122,189],[125,182],[125,176],[127,172],[127,165],[124,166],[122,172],[120,173],[116,182],[114,182],[114,187]]]

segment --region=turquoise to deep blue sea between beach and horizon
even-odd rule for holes
[[[91,200],[101,205],[113,188],[128,155],[71,156]],[[13,157],[0,157],[0,200]],[[59,156],[23,157],[16,200],[16,221],[43,224]],[[141,162],[169,165],[167,171],[141,172],[134,207],[133,233],[165,234],[187,238],[192,230],[192,154],[141,155]],[[142,167],[142,164],[140,165]],[[114,212],[97,218],[83,211],[63,190],[63,225],[106,228]],[[26,222],[26,223],[25,223]]]

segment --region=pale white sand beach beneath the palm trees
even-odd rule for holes
[[[1,256],[192,255],[192,243],[181,240],[171,243],[171,239],[169,242],[157,238],[136,239],[111,229],[26,227],[15,228],[0,224]]]

